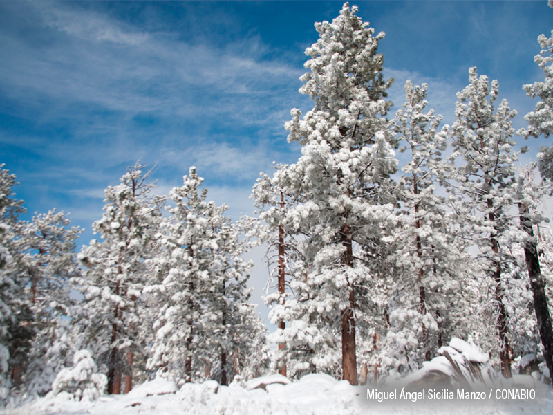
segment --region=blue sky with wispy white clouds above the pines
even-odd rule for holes
[[[303,50],[315,21],[341,1],[0,2],[0,163],[32,212],[71,212],[93,237],[103,192],[141,159],[156,165],[160,194],[182,184],[189,166],[233,219],[272,161],[294,163],[286,142]],[[539,1],[357,1],[358,15],[386,37],[385,75],[394,77],[391,115],[408,79],[429,84],[429,107],[454,120],[456,92],[478,66],[500,83],[500,98],[534,108],[522,85],[543,80],[538,35],[553,9]],[[541,140],[531,145],[534,158]],[[259,254],[254,254],[258,255]],[[266,270],[254,279],[263,286]],[[259,285],[254,284],[254,285]]]

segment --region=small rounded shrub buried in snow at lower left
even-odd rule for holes
[[[57,374],[48,396],[64,395],[71,400],[95,400],[104,394],[107,377],[98,373],[96,362],[88,350],[81,350],[73,357],[73,367]]]

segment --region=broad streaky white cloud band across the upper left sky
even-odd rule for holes
[[[257,39],[224,48],[189,44],[173,33],[142,33],[106,14],[52,6],[32,5],[46,28],[54,30],[48,44],[36,48],[23,37],[1,39],[10,59],[0,68],[0,87],[26,104],[52,100],[44,116],[71,116],[53,112],[72,106],[71,113],[78,113],[78,103],[129,117],[158,111],[194,119],[211,113],[263,124],[269,118],[264,107],[297,94],[290,84],[302,71],[263,59],[264,46]]]

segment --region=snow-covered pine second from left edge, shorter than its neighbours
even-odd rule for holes
[[[70,298],[69,280],[78,275],[75,239],[82,230],[67,228],[63,212],[50,210],[20,223],[18,262],[27,277],[34,332],[33,347],[26,358],[28,391],[46,394],[57,372],[71,365],[72,349],[67,343]]]

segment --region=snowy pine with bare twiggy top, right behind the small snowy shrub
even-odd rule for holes
[[[91,349],[94,360],[105,365],[109,394],[120,393],[123,375],[125,393],[132,389],[134,353],[143,347],[140,296],[149,284],[146,259],[165,201],[151,196],[152,170],[143,169],[136,163],[120,185],[106,189],[104,214],[93,224],[102,241],[92,241],[78,256],[86,267],[75,279],[84,294],[79,331],[86,333],[78,349]]]

